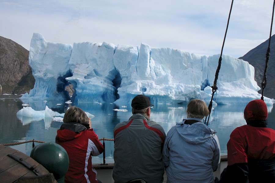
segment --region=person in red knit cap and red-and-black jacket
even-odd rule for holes
[[[219,182],[275,182],[275,130],[266,127],[266,103],[260,99],[249,102],[244,119],[247,125],[230,134],[228,166]]]

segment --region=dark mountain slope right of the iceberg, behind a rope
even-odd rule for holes
[[[259,87],[262,88],[262,78],[264,74],[264,69],[266,66],[266,51],[268,48],[269,39],[250,50],[247,54],[240,57],[239,59],[243,59],[248,61],[255,68],[255,81]],[[275,76],[273,72],[275,70],[275,35],[271,37],[270,41],[270,58],[268,61],[268,67],[266,72],[266,88],[264,88],[264,96],[275,99]],[[258,93],[262,94],[262,89],[258,91]]]

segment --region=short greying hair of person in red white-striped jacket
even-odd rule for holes
[[[89,118],[82,109],[76,106],[72,106],[64,114],[63,122],[89,124]]]

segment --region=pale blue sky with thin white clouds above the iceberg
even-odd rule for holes
[[[211,56],[221,53],[231,3],[232,0],[0,0],[0,36],[27,50],[33,33],[40,33],[46,41],[55,43],[146,43],[151,48]],[[235,0],[222,53],[239,58],[266,41],[272,10],[272,0]]]

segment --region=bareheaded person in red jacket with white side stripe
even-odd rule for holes
[[[91,120],[79,107],[70,107],[63,118],[64,124],[57,130],[55,142],[61,145],[69,156],[69,169],[65,183],[91,182],[96,179],[97,171],[92,167],[92,157],[103,152],[103,145],[91,128]]]

